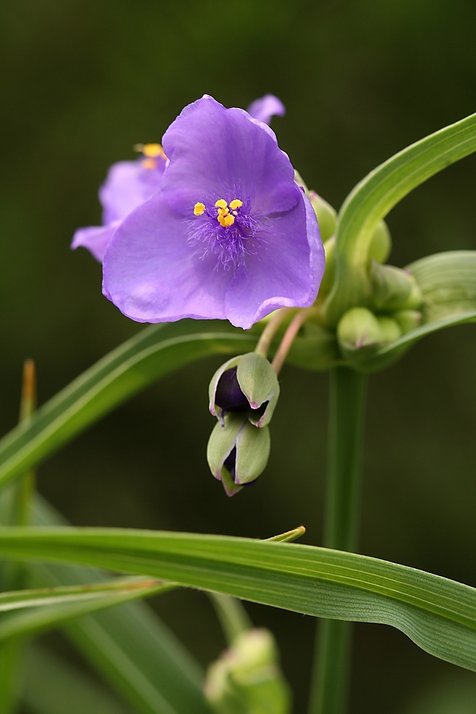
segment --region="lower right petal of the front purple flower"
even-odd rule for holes
[[[237,269],[225,302],[233,325],[248,329],[277,308],[315,301],[325,255],[313,207],[300,196],[292,211],[270,219],[266,246]]]

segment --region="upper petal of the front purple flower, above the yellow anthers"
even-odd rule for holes
[[[288,211],[298,201],[293,167],[273,131],[243,109],[225,109],[211,97],[189,104],[163,136],[170,165],[161,190],[183,216],[193,206],[223,198],[250,197],[253,211]]]

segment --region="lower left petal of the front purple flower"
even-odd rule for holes
[[[232,280],[233,271],[216,270],[214,256],[191,249],[186,221],[161,193],[125,218],[103,261],[104,294],[138,322],[224,319]]]

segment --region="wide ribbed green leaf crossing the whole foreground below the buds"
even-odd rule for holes
[[[476,589],[338,550],[108,528],[4,528],[0,555],[87,563],[342,620],[386,623],[476,670]]]

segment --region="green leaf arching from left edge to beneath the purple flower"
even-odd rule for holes
[[[246,333],[170,337],[174,326],[153,326],[101,359],[39,408],[25,426],[0,441],[0,485],[54,453],[86,427],[153,381],[213,354],[252,350]],[[186,326],[177,326],[181,331]]]

